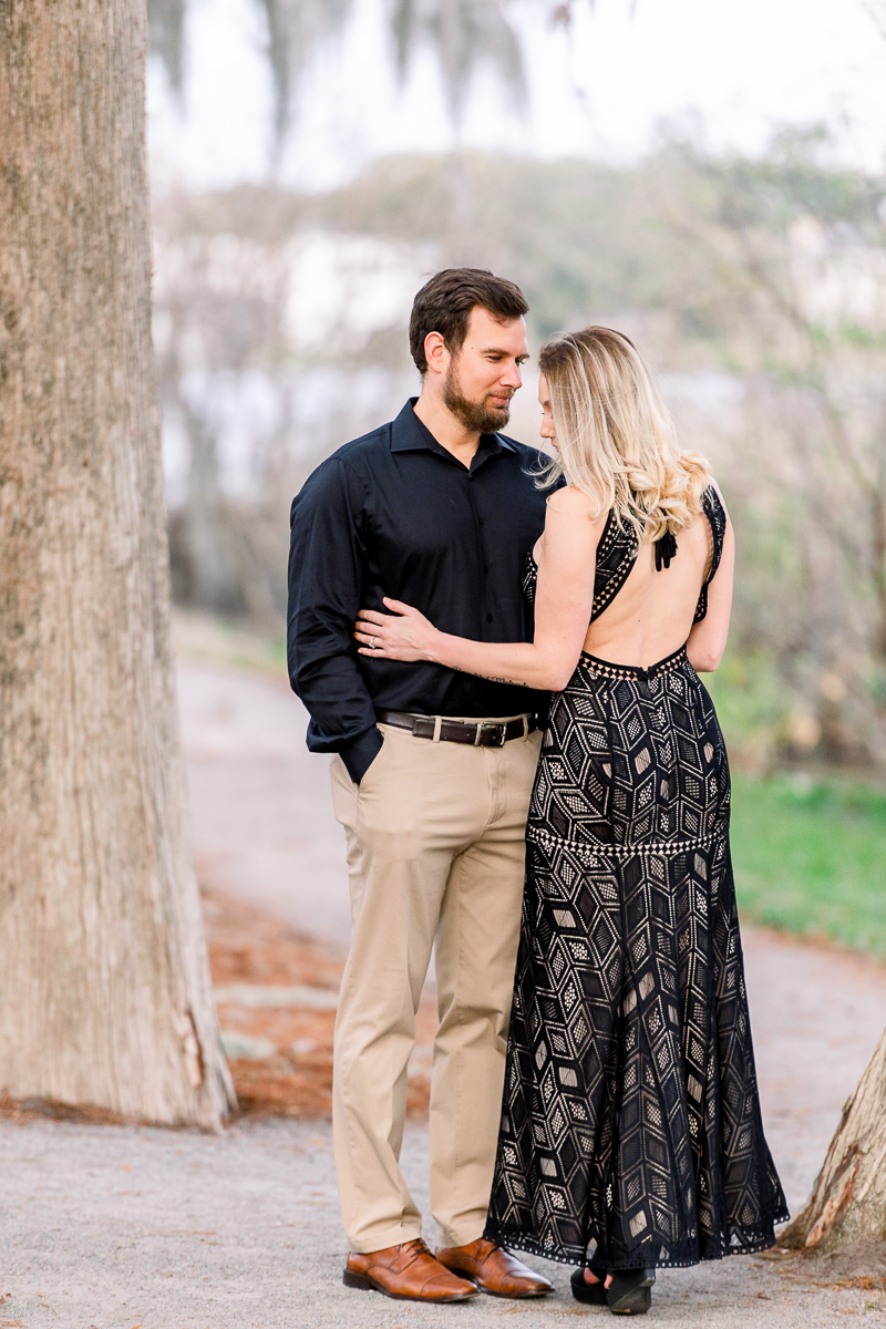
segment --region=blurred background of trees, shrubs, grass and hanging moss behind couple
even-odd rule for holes
[[[260,3],[282,137],[349,0]],[[179,88],[182,5],[149,7]],[[392,0],[389,24],[399,69],[436,52],[456,126],[478,52],[525,96],[495,0]],[[836,166],[824,126],[776,134],[753,159],[663,136],[626,166],[453,144],[324,193],[158,194],[177,599],[282,635],[290,500],[417,392],[406,324],[432,271],[519,282],[535,348],[561,328],[619,327],[736,526],[733,629],[711,690],[741,775],[744,906],[886,953],[886,801],[863,792],[886,783],[886,177]],[[511,429],[530,443],[534,391],[530,373]]]

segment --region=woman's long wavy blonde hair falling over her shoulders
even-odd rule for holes
[[[711,482],[699,452],[681,452],[673,421],[636,347],[614,328],[562,332],[542,347],[559,457],[541,484],[559,476],[632,526],[638,544],[675,536],[701,513]]]

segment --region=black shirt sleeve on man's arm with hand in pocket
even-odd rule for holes
[[[290,682],[311,715],[308,748],[339,752],[355,783],[383,743],[352,635],[363,593],[365,509],[360,476],[329,457],[292,502],[290,541]]]

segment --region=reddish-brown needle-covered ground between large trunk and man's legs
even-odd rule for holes
[[[213,982],[337,990],[344,954],[332,942],[306,937],[256,905],[205,892],[203,913]],[[240,1111],[250,1116],[325,1118],[332,1107],[333,1010],[262,1009],[219,1003],[223,1030],[263,1038],[276,1053],[267,1059],[234,1058],[231,1075]],[[409,1079],[408,1112],[426,1118],[433,999],[422,998]]]

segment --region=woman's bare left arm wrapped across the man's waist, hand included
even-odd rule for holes
[[[591,618],[602,529],[603,520],[592,520],[591,502],[578,489],[558,489],[547,500],[533,642],[472,642],[452,637],[438,633],[409,605],[385,599],[389,614],[360,610],[355,633],[360,654],[433,661],[494,683],[559,691],[573,676]],[[371,641],[375,649],[369,649]]]

